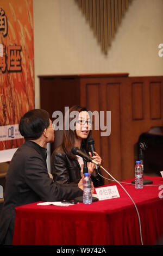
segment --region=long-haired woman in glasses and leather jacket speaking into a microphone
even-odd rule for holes
[[[76,113],[74,120],[73,113]],[[64,124],[69,129],[63,130],[62,143],[53,151],[51,157],[52,175],[55,181],[70,186],[77,186],[83,175],[83,158],[71,153],[71,149],[78,147],[91,156],[87,141],[91,138],[91,118],[86,107],[73,106],[65,114]],[[92,159],[101,164],[101,157],[95,152]],[[103,178],[95,172],[95,164],[87,163],[93,186],[104,185]],[[99,172],[99,170],[98,170]]]

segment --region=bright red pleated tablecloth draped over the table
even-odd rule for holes
[[[162,184],[161,177],[146,177]],[[128,180],[131,181],[131,180]],[[15,209],[14,245],[140,245],[139,220],[127,194],[117,185],[120,198],[71,206],[39,206]],[[163,198],[159,186],[123,185],[139,210],[144,245],[163,236]],[[163,194],[163,193],[162,193]]]

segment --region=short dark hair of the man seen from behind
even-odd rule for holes
[[[44,109],[32,109],[20,119],[19,130],[25,139],[38,139],[49,126],[49,113]]]

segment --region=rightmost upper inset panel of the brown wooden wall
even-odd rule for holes
[[[161,83],[150,83],[151,119],[161,119]]]

